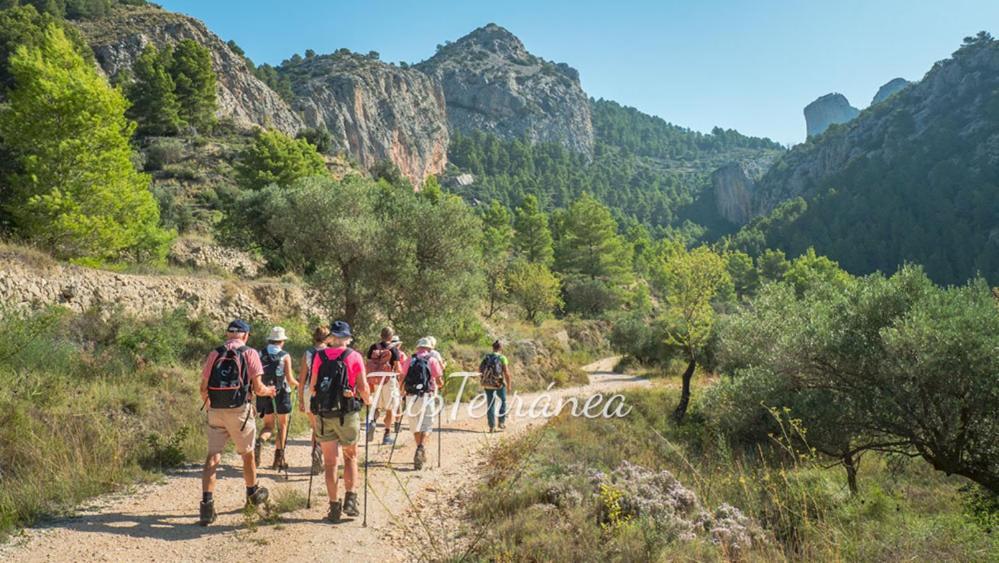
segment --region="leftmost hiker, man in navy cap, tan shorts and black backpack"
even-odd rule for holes
[[[201,510],[199,524],[215,521],[215,470],[222,461],[222,450],[232,440],[236,453],[243,458],[243,481],[246,483],[246,503],[258,506],[267,501],[267,489],[257,484],[257,465],[253,459],[253,443],[257,434],[253,418],[251,393],[258,397],[273,397],[274,387],[261,382],[264,368],[257,351],[246,345],[250,325],[236,319],[229,323],[225,344],[212,350],[201,370],[201,400],[208,405],[208,457],[201,475]]]

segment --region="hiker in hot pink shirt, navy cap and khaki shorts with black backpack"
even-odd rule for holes
[[[326,519],[337,523],[340,516],[359,515],[357,493],[357,439],[361,433],[361,409],[370,403],[361,354],[347,347],[352,340],[350,325],[330,325],[327,347],[312,359],[312,412],[316,414],[316,438],[323,449],[326,492],[330,507]],[[343,502],[337,493],[337,456],[343,450]]]

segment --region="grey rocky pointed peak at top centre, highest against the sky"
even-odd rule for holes
[[[590,104],[579,72],[532,55],[496,24],[441,48],[417,68],[443,85],[452,130],[593,150]]]

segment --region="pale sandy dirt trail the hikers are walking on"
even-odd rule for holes
[[[560,389],[549,395],[553,399],[586,396],[648,384],[637,377],[611,373],[615,361],[616,358],[605,358],[586,366],[584,369],[591,372],[589,385]],[[525,411],[538,396],[538,393],[521,396]],[[101,497],[76,517],[26,530],[21,538],[0,547],[0,560],[357,563],[431,559],[430,553],[414,553],[415,543],[405,539],[401,523],[409,525],[425,518],[422,513],[435,505],[439,507],[442,497],[452,495],[447,498],[453,498],[455,491],[474,484],[477,467],[491,447],[546,420],[540,409],[536,409],[534,413],[509,420],[506,432],[489,434],[483,431],[486,428],[481,418],[484,410],[480,408],[477,412],[479,417],[471,417],[466,402],[457,417],[451,420],[452,409],[448,407],[439,469],[436,430],[427,450],[428,467],[420,472],[412,469],[413,437],[407,434],[405,426],[392,457],[394,471],[385,465],[389,447],[372,443],[367,528],[361,527],[360,518],[337,525],[322,520],[328,499],[321,476],[313,482],[311,509],[285,513],[276,525],[260,524],[255,529],[248,528],[241,510],[244,492],[238,458],[229,454],[223,459],[215,492],[219,518],[207,528],[197,525],[201,468],[191,465],[170,472],[158,484],[141,487],[130,494]],[[379,427],[376,436],[380,437],[381,433]],[[272,499],[286,488],[306,494],[308,445],[308,436],[289,440],[292,468],[288,481],[283,474],[279,477],[270,469],[260,472],[260,483],[270,489]],[[265,447],[262,460],[265,467],[270,463],[272,452],[272,448]],[[359,453],[363,456],[363,449]]]

